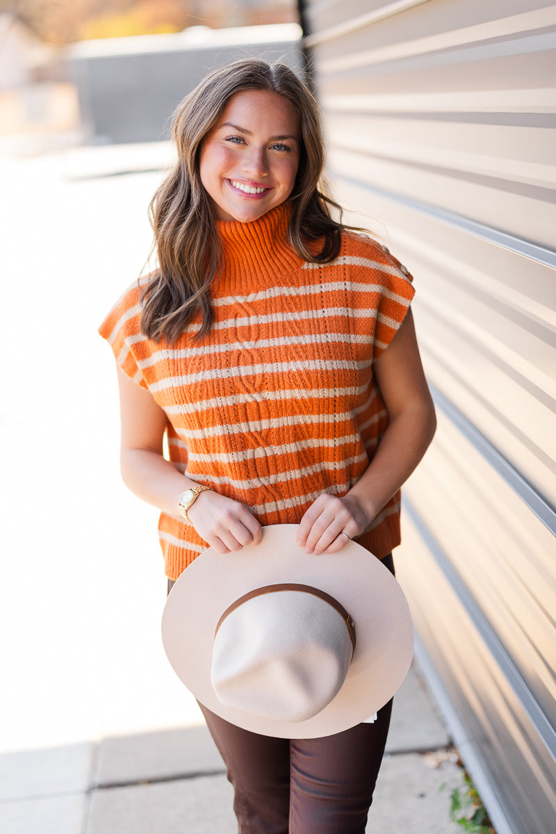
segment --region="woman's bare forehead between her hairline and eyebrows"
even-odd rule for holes
[[[268,90],[243,90],[232,96],[218,119],[217,128],[226,122],[252,133],[299,134],[299,117],[293,104]]]

